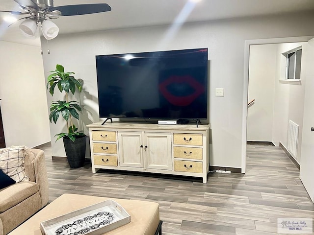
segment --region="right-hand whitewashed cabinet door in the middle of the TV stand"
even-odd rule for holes
[[[171,170],[171,134],[145,132],[145,141],[146,168]]]

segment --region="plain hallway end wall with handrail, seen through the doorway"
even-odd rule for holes
[[[247,140],[272,141],[277,44],[250,46]]]

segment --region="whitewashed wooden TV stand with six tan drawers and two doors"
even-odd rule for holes
[[[92,171],[111,169],[201,177],[206,184],[209,126],[118,121],[87,125]]]

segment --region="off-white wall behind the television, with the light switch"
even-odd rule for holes
[[[314,35],[312,22],[314,15],[304,13],[186,24],[172,38],[164,38],[169,26],[59,35],[49,43],[51,54],[43,56],[44,71],[47,77],[60,63],[85,81],[84,102],[90,113],[84,124],[88,124],[99,120],[95,55],[208,47],[210,164],[241,168],[244,42]],[[45,42],[42,47],[47,49]],[[214,96],[215,88],[224,88],[225,96]],[[52,139],[63,126],[50,126]],[[62,142],[53,144],[52,155],[65,156]]]

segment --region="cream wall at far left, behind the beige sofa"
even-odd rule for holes
[[[6,146],[49,142],[40,47],[0,41],[0,98]]]

